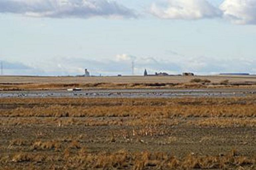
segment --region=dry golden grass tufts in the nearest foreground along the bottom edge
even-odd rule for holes
[[[253,169],[255,157],[245,157],[231,150],[227,154],[216,156],[202,156],[190,153],[183,158],[177,158],[164,152],[117,152],[90,153],[82,148],[76,153],[68,149],[63,152],[63,157],[48,156],[46,154],[17,153],[10,157],[13,163],[40,163],[59,161],[62,165],[52,167],[68,169]],[[14,164],[15,165],[15,164]]]

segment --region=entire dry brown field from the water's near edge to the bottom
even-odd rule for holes
[[[0,169],[255,169],[256,97],[0,99]]]

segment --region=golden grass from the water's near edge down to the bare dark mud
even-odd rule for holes
[[[256,98],[176,99],[0,99],[0,125],[141,126],[150,135],[154,127],[255,127]]]

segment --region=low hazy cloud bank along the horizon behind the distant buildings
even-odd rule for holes
[[[118,55],[129,56],[129,55]],[[144,69],[148,73],[167,72],[180,74],[182,72],[194,72],[196,74],[211,74],[221,72],[248,72],[256,73],[256,59],[229,58],[216,59],[214,57],[179,57],[179,61],[160,60],[152,57],[136,57],[135,74],[143,75]],[[3,61],[4,74],[12,75],[78,75],[88,68],[92,75],[130,75],[131,60],[93,60],[72,57],[55,57],[52,60],[42,61],[27,66],[22,63],[10,63]]]

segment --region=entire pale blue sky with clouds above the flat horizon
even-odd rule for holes
[[[256,73],[256,0],[0,0],[4,75]]]

